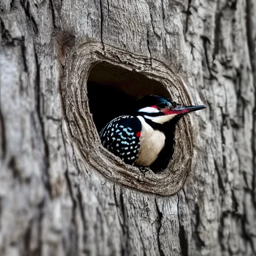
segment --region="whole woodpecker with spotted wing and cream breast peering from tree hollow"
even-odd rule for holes
[[[106,124],[99,133],[101,143],[127,164],[151,166],[171,156],[177,120],[202,108],[205,105],[182,106],[158,95],[143,96],[132,115],[118,116]]]

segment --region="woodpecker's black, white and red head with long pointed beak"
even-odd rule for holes
[[[205,105],[177,105],[174,101],[157,95],[141,97],[137,102],[136,115],[159,124],[178,119],[184,114],[205,108]]]

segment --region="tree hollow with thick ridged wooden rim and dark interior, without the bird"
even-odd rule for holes
[[[167,167],[154,173],[125,164],[103,147],[98,132],[112,118],[126,114],[132,102],[147,94],[190,104],[183,81],[161,62],[102,43],[73,42],[65,56],[61,96],[74,147],[91,168],[128,187],[160,195],[176,193],[190,171],[192,135],[188,118],[175,132],[174,151]],[[61,56],[63,59],[63,56]],[[127,113],[128,114],[128,113]],[[180,128],[182,127],[182,128]],[[178,145],[178,146],[177,146]]]

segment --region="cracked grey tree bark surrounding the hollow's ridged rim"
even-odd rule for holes
[[[0,255],[255,255],[254,0],[0,0]],[[126,188],[67,132],[58,33],[155,58],[199,93],[182,189]]]

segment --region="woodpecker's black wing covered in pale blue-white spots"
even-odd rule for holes
[[[139,150],[141,123],[137,117],[122,115],[111,120],[100,131],[105,148],[125,163],[133,164]]]

